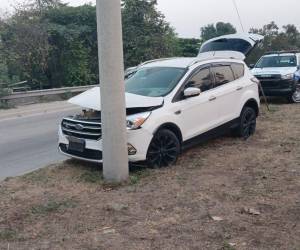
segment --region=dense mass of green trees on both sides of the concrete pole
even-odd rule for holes
[[[156,5],[154,0],[122,2],[126,66],[178,52],[176,34]],[[27,80],[33,89],[98,82],[95,6],[26,0],[0,20],[0,41],[8,76]]]

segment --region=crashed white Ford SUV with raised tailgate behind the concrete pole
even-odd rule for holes
[[[251,136],[259,113],[258,81],[243,59],[261,39],[219,37],[203,44],[196,58],[155,60],[131,72],[125,83],[129,161],[167,166],[182,149],[209,135],[231,130]],[[63,119],[60,152],[101,162],[99,88],[69,102],[84,110]]]

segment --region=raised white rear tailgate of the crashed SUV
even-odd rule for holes
[[[221,53],[219,56],[228,56],[230,52],[235,52],[231,57],[238,59],[245,59],[252,49],[264,39],[263,36],[250,33],[236,33],[232,35],[219,36],[210,39],[202,44],[198,56],[203,53],[214,52]],[[217,54],[216,54],[217,56]],[[230,57],[230,56],[229,56]]]

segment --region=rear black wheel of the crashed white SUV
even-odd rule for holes
[[[239,125],[235,129],[235,135],[247,140],[255,133],[256,130],[256,112],[251,107],[244,107],[240,118]]]

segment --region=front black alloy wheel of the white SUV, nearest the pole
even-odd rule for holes
[[[166,167],[176,162],[180,153],[177,136],[168,129],[159,130],[153,137],[147,152],[150,167]]]

